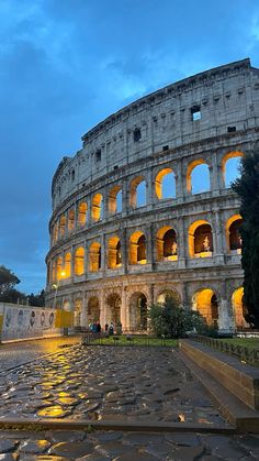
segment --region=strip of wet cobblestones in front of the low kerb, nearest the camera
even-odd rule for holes
[[[95,431],[1,431],[0,460],[11,461],[248,461],[259,436]]]

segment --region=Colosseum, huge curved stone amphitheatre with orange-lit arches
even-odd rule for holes
[[[108,117],[53,178],[46,305],[76,326],[148,329],[166,295],[221,331],[246,326],[233,162],[259,133],[259,69],[244,59]]]

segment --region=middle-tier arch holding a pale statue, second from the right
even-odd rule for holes
[[[191,257],[210,257],[213,252],[212,227],[207,221],[193,222],[189,229],[189,253]]]

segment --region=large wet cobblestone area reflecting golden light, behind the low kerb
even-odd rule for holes
[[[225,422],[172,349],[64,348],[0,375],[3,417]]]

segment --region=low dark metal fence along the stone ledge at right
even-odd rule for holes
[[[210,348],[217,349],[221,352],[234,355],[241,362],[259,366],[259,347],[257,349],[247,348],[246,345],[233,344],[230,342],[225,342],[223,340],[207,338],[199,334],[194,334],[190,337],[190,339],[209,345]]]

